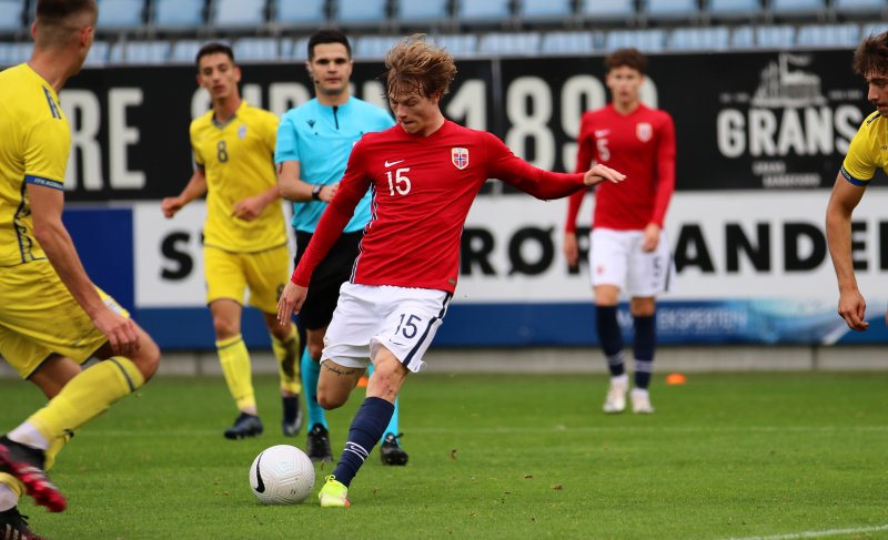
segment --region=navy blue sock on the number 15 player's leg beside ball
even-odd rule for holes
[[[352,483],[352,479],[364,465],[376,441],[382,438],[394,409],[394,405],[385,399],[377,397],[364,399],[357,414],[354,415],[352,426],[349,428],[349,441],[345,442],[340,462],[333,471],[336,480],[345,486]]]

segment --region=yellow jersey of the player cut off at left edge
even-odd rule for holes
[[[0,72],[0,266],[14,266],[46,258],[24,186],[62,190],[71,130],[58,94],[27,63]]]

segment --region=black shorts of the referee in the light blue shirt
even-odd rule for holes
[[[306,329],[326,327],[333,319],[333,310],[340,297],[340,286],[352,276],[352,266],[357,257],[357,246],[364,237],[363,231],[343,233],[330,252],[314,269],[309,282],[309,296],[299,310],[299,319]],[[296,231],[295,264],[302,258],[312,233]]]

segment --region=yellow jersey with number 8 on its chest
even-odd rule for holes
[[[286,244],[281,204],[269,204],[252,222],[231,215],[239,202],[278,185],[278,116],[242,101],[224,124],[210,110],[191,122],[190,132],[194,161],[206,176],[204,245],[251,253]]]

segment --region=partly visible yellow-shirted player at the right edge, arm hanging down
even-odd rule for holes
[[[857,288],[851,256],[851,214],[877,169],[888,172],[888,32],[869,35],[857,47],[854,70],[867,82],[876,112],[851,140],[826,210],[826,235],[839,286],[838,313],[856,332],[866,330],[866,300]],[[888,322],[888,315],[886,315]]]

